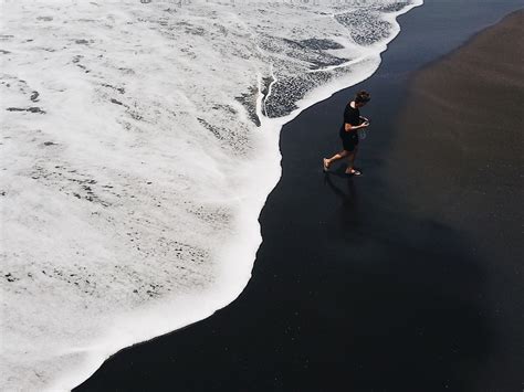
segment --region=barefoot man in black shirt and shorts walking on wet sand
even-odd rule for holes
[[[348,165],[345,171],[348,176],[361,176],[359,170],[354,168],[355,157],[358,150],[358,129],[369,126],[369,120],[360,117],[359,108],[371,99],[369,93],[361,91],[355,96],[355,99],[347,104],[344,110],[344,123],[338,131],[344,149],[335,153],[329,159],[324,158],[324,171],[328,171],[333,162],[347,158]]]

